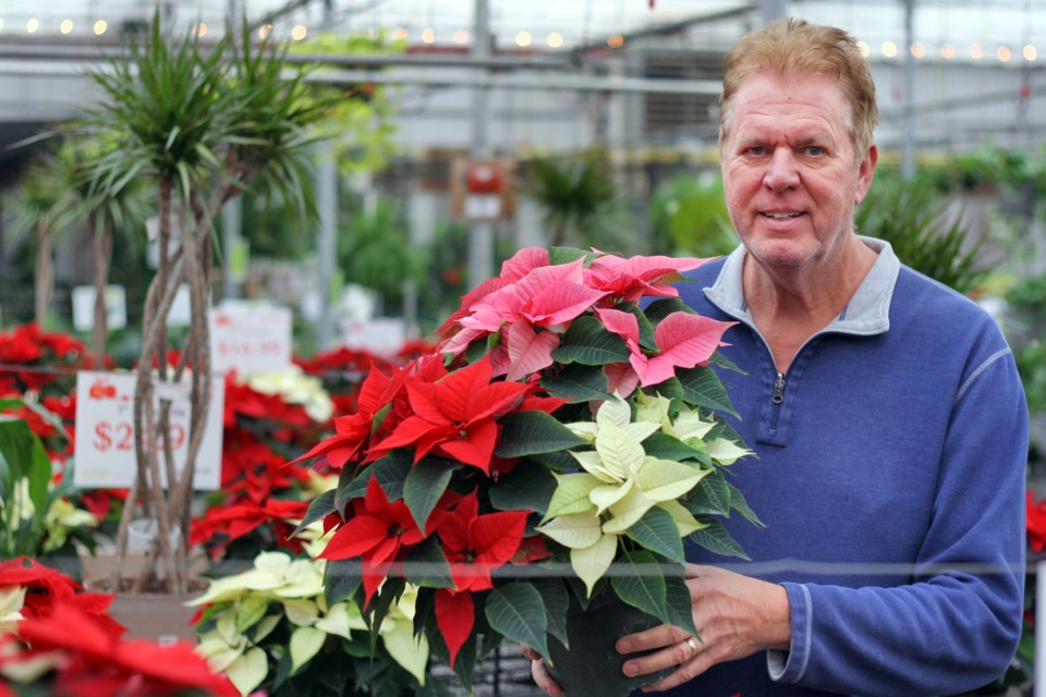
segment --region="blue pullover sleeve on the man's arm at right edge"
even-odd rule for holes
[[[783,583],[792,643],[768,653],[770,677],[891,697],[962,693],[997,678],[1021,633],[1026,457],[1023,389],[1000,348],[956,398],[911,583]]]

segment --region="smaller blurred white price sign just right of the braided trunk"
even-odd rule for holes
[[[210,357],[216,372],[277,372],[291,365],[291,310],[212,309]]]

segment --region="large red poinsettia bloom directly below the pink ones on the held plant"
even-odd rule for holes
[[[436,382],[404,378],[412,413],[375,448],[414,445],[414,462],[435,453],[489,474],[496,419],[531,391],[519,382],[491,382],[491,374],[490,359],[484,357]]]

